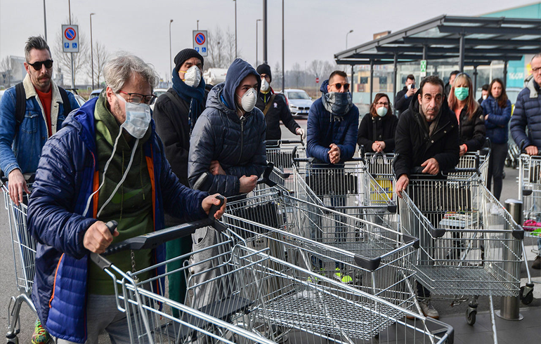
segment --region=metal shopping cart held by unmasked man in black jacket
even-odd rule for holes
[[[478,179],[412,178],[402,194],[401,223],[420,240],[415,278],[431,293],[473,296],[469,324],[476,322],[478,296],[488,296],[496,338],[493,296],[521,292],[521,226]]]

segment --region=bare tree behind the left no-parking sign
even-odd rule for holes
[[[69,18],[65,18],[64,22],[69,22]],[[72,24],[77,25],[77,18],[72,15]],[[81,75],[81,72],[86,71],[90,64],[90,44],[86,44],[86,35],[79,31],[79,53],[73,53],[73,70],[74,76]],[[71,80],[72,78],[72,62],[70,53],[63,52],[62,34],[58,32],[56,35],[55,44],[53,46],[53,60],[58,64],[64,76]]]

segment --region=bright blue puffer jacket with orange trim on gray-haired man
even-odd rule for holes
[[[39,243],[32,301],[49,333],[75,343],[86,341],[86,278],[91,263],[83,237],[96,222],[96,214],[83,212],[86,200],[98,187],[96,100],[86,102],[68,117],[44,145],[28,205],[28,227]],[[206,216],[201,201],[207,194],[178,182],[164,157],[153,121],[151,129],[143,150],[152,182],[155,230],[164,227],[164,210],[186,220]],[[96,195],[89,209],[94,209]],[[164,260],[164,253],[164,245],[159,246],[153,263]],[[161,270],[156,273],[163,273],[163,267]]]

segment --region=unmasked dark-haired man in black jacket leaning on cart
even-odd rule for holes
[[[413,95],[410,108],[406,110],[396,126],[395,160],[393,162],[396,174],[395,190],[398,197],[410,183],[413,168],[424,167],[422,173],[441,176],[441,171],[455,167],[459,161],[459,126],[457,117],[447,105],[443,81],[431,75],[421,81],[419,90]],[[465,192],[463,193],[465,194]],[[449,209],[448,200],[443,199],[441,192],[431,192],[420,187],[410,187],[408,196],[419,206],[419,209]],[[436,220],[434,220],[436,218]],[[438,227],[439,219],[433,218],[434,226]],[[423,232],[419,234],[421,241]],[[438,311],[430,303],[430,291],[417,283],[417,295],[422,297],[419,302],[425,317],[438,319]]]

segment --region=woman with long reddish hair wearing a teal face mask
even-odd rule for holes
[[[460,131],[460,156],[476,152],[485,144],[485,118],[483,109],[475,100],[468,74],[460,73],[449,93],[449,108],[457,116]]]

